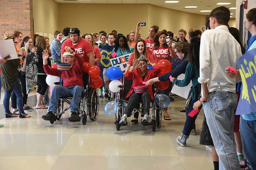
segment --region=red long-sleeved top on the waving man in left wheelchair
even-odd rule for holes
[[[63,81],[63,87],[81,86],[84,87],[83,81],[83,59],[76,53],[75,63],[68,71],[60,71],[57,68],[51,68],[48,64],[44,65],[44,71],[47,74],[58,76]]]

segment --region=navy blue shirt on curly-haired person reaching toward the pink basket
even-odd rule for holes
[[[186,67],[188,65],[188,53],[186,53],[183,57],[183,61],[174,69],[172,70],[171,72],[169,73],[166,73],[164,75],[160,75],[158,77],[158,79],[160,81],[167,81],[167,80],[170,80],[170,75],[172,75],[172,77],[175,77],[177,78],[180,74],[185,74],[186,72]]]

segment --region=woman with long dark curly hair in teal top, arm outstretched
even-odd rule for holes
[[[174,48],[176,48],[178,44],[175,44]],[[197,81],[199,77],[199,49],[200,49],[200,38],[199,37],[192,38],[191,44],[189,44],[188,46],[188,66],[186,67],[185,78],[183,80],[178,80],[174,77],[172,78],[172,82],[179,87],[187,86],[192,80],[193,87],[192,87],[192,94],[191,94],[192,98],[191,98],[189,113],[193,110],[193,105],[198,100],[198,96],[200,95],[200,92],[201,92],[201,85]],[[178,56],[180,55],[177,50],[175,53],[177,53]],[[179,136],[177,138],[177,142],[181,146],[186,146],[186,140],[189,137],[191,130],[193,129],[193,126],[195,124],[196,117],[199,111],[197,110],[196,111],[197,113],[195,113],[194,116],[193,115],[187,116],[182,137]]]

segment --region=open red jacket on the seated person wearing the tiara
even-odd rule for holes
[[[148,80],[158,76],[158,74],[160,73],[159,66],[154,65],[153,68],[154,68],[153,70],[147,71],[144,81],[148,81]],[[133,77],[133,75],[134,75],[134,77]],[[145,86],[145,84],[142,84],[143,80],[142,80],[142,74],[141,74],[140,68],[136,68],[135,70],[133,70],[132,73],[130,72],[130,70],[128,70],[125,74],[125,77],[128,80],[133,80],[132,87],[129,90],[129,92],[127,93],[127,95],[125,96],[125,98],[129,97],[132,93],[134,93],[133,87]],[[151,96],[151,100],[153,100],[154,94],[152,91],[152,85],[148,86],[148,93]]]

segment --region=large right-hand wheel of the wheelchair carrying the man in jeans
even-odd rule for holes
[[[99,106],[100,106],[100,102],[99,102],[99,98],[98,98],[98,91],[97,89],[91,89],[90,91],[90,95],[89,95],[89,103],[90,107],[88,108],[88,112],[89,112],[89,117],[91,119],[91,121],[95,121],[98,117],[99,114]]]

